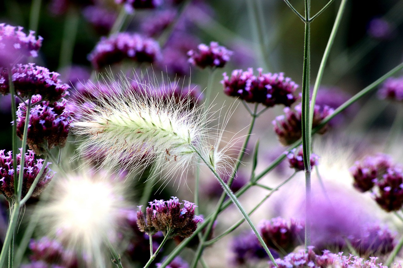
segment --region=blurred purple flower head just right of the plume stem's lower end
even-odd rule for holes
[[[304,241],[303,221],[281,217],[264,220],[259,224],[260,234],[268,247],[279,252],[291,252]]]

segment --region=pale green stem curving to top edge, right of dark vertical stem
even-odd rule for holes
[[[332,2],[332,0],[330,0],[329,3],[331,3],[331,2]],[[334,20],[333,28],[332,28],[332,31],[330,32],[329,40],[328,40],[328,43],[326,45],[325,51],[323,53],[322,61],[320,62],[318,75],[316,76],[315,85],[314,85],[314,91],[312,92],[311,107],[310,107],[310,128],[309,128],[310,131],[312,130],[312,121],[313,121],[313,118],[314,118],[316,95],[318,93],[320,82],[322,81],[324,68],[325,68],[327,60],[329,58],[330,49],[332,48],[332,45],[334,43],[334,38],[336,37],[337,29],[339,29],[339,25],[340,25],[340,22],[341,22],[341,17],[343,16],[343,12],[345,10],[346,2],[347,2],[347,0],[342,0],[341,3],[340,3],[339,11],[337,12],[336,19]],[[311,19],[311,21],[312,21],[312,19]]]

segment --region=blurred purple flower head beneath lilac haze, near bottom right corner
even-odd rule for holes
[[[386,225],[367,224],[359,236],[349,237],[349,240],[361,256],[372,256],[391,252],[395,247],[394,238]]]

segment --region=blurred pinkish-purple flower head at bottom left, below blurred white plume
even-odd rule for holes
[[[66,251],[60,242],[49,239],[46,236],[39,240],[31,239],[29,249],[32,251],[29,257],[32,263],[23,266],[23,268],[42,268],[50,267],[50,265],[52,265],[51,267],[58,265],[57,267],[62,268],[78,267],[77,256],[75,256],[73,252]],[[42,264],[42,266],[40,266],[40,264]]]

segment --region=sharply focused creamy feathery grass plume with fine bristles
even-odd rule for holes
[[[160,88],[155,75],[154,81],[138,76],[136,80],[135,89],[125,77],[111,80],[108,95],[92,94],[97,99],[91,100],[91,108],[79,107],[72,128],[74,134],[87,136],[80,145],[82,153],[100,148],[94,157],[104,157],[104,167],[129,171],[152,164],[158,172],[180,169],[183,175],[197,155],[208,159],[218,172],[229,166],[231,156],[226,152],[231,144],[219,148],[223,132],[218,126],[207,126],[213,121],[212,113],[202,105],[193,107],[191,95],[179,100],[174,95],[156,97],[153,92]],[[177,82],[173,84],[175,88]]]

